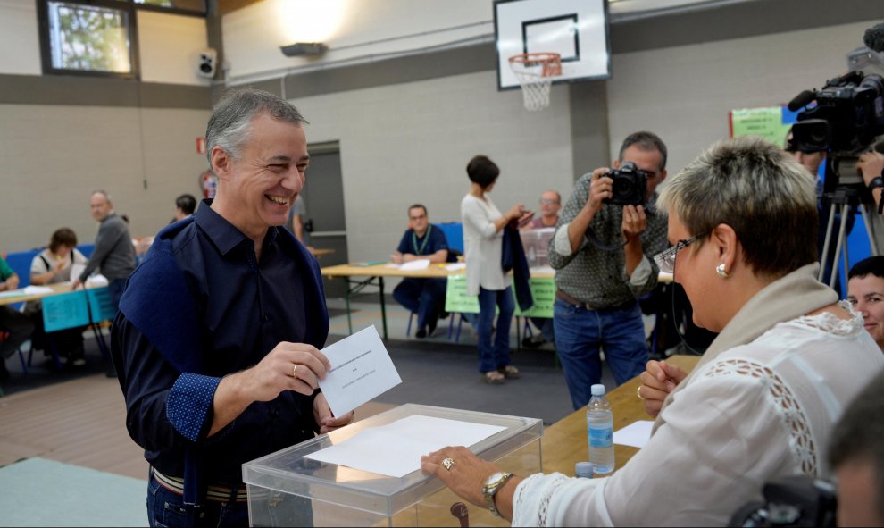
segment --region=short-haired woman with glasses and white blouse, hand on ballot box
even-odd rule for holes
[[[884,367],[862,316],[816,281],[813,177],[780,147],[714,145],[659,203],[674,246],[655,260],[684,286],[695,323],[720,335],[688,377],[639,388],[639,398],[671,394],[620,471],[499,486],[492,504],[515,525],[725,525],[761,499],[763,482],[826,474],[838,416]],[[483,485],[501,480],[466,448],[431,453],[421,468],[480,506]]]

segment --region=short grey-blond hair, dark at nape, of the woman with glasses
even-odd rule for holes
[[[659,205],[701,238],[694,251],[716,226],[729,225],[757,274],[780,277],[817,260],[813,174],[761,138],[709,147],[666,182]]]

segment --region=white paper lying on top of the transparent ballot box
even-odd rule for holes
[[[431,451],[446,446],[471,446],[505,429],[499,425],[411,415],[387,425],[371,427],[336,446],[305,457],[403,477],[421,469],[421,457]]]

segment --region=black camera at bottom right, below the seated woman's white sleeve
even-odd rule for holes
[[[765,483],[762,494],[763,502],[740,507],[728,526],[835,526],[838,502],[830,482],[785,477]]]

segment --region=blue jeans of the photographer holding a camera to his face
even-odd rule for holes
[[[618,385],[645,371],[645,324],[638,303],[623,310],[587,310],[555,299],[553,313],[555,350],[575,410],[587,405],[589,388],[602,381],[599,347]]]

